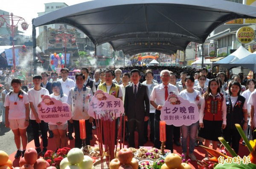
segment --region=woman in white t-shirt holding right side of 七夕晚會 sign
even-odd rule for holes
[[[197,106],[201,105],[201,93],[198,90],[194,90],[193,86],[195,83],[195,79],[193,76],[186,76],[185,85],[186,89],[180,92],[180,96],[183,99],[188,100],[190,103],[195,103]],[[198,107],[199,109],[199,107]],[[199,114],[199,111],[197,112]],[[195,140],[196,140],[196,132],[198,130],[199,121],[191,124],[190,126],[182,125],[180,126],[181,131],[181,148],[182,153],[184,155],[183,158],[186,158],[187,152],[187,138],[189,137],[189,157],[191,160],[195,161],[196,157],[194,155],[195,149]]]

